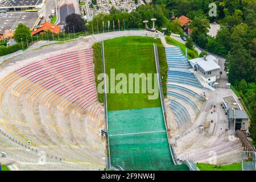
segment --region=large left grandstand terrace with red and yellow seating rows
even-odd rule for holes
[[[24,144],[29,140],[35,150],[63,159],[57,168],[105,168],[104,116],[97,98],[91,48],[24,65],[3,77],[0,85],[3,133]],[[9,143],[4,151],[10,159],[25,160],[20,168],[35,161],[36,153],[18,147],[24,154],[14,154]],[[33,169],[33,164],[30,167]]]

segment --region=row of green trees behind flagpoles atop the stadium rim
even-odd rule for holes
[[[88,31],[92,33],[97,32],[98,30],[101,32],[103,30],[104,22],[104,30],[108,30],[108,21],[110,21],[109,29],[113,30],[113,28],[118,29],[118,19],[120,24],[120,29],[124,28],[144,28],[143,20],[150,20],[151,18],[158,19],[155,22],[155,27],[160,30],[163,27],[167,27],[167,30],[171,30],[171,22],[168,19],[167,11],[164,8],[164,5],[141,5],[135,11],[131,11],[131,13],[123,12],[112,7],[110,10],[110,14],[98,14],[94,16],[93,20],[86,24],[88,27]],[[113,25],[114,20],[114,25]],[[125,23],[124,23],[125,22]],[[93,24],[93,26],[92,26]],[[148,22],[148,26],[152,27],[152,22]],[[172,27],[175,29],[175,27]],[[179,28],[179,32],[182,33],[181,28],[176,25],[176,28]]]

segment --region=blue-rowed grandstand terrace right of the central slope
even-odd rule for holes
[[[167,71],[167,96],[170,102],[167,108],[174,115],[179,132],[186,130],[195,121],[200,113],[205,98],[201,95],[203,86],[194,73],[189,71],[191,64],[181,51],[180,47],[166,47]],[[172,130],[175,130],[172,127]]]

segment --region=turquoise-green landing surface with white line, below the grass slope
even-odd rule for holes
[[[174,166],[162,107],[108,112],[111,164],[125,170],[186,170]]]

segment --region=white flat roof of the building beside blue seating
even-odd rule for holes
[[[217,58],[209,55],[206,57],[206,60],[204,60],[204,57],[198,57],[189,61],[191,61],[193,64],[198,64],[202,69],[204,69],[205,72],[209,72],[221,68],[217,63],[215,63],[214,60],[217,60]]]

